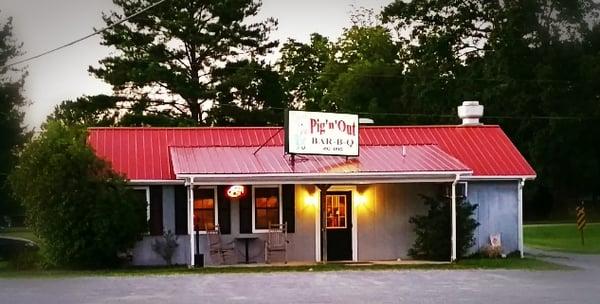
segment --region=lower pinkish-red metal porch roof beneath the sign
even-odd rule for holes
[[[471,171],[435,145],[366,146],[360,156],[297,156],[294,165],[282,148],[171,147],[175,174],[364,173]],[[226,160],[226,161],[223,161]]]

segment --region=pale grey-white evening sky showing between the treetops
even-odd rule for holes
[[[379,11],[392,0],[263,0],[260,17],[279,21],[272,38],[307,41],[318,32],[337,38],[350,25],[353,7]],[[2,22],[13,17],[15,36],[24,43],[25,57],[39,54],[81,38],[101,28],[101,12],[114,10],[111,0],[0,0]],[[25,123],[39,127],[61,101],[82,95],[110,94],[111,88],[91,76],[90,65],[108,56],[111,50],[94,36],[79,44],[27,64]]]

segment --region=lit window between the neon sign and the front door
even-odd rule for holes
[[[279,187],[254,188],[254,229],[268,229],[269,223],[280,223],[280,190]]]

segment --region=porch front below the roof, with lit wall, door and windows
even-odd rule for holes
[[[197,189],[210,186],[196,186]],[[261,228],[267,220],[288,224],[287,256],[292,265],[320,262],[342,263],[407,263],[411,261],[408,250],[415,236],[409,218],[427,212],[421,195],[438,196],[452,187],[452,182],[415,182],[364,185],[331,185],[324,193],[324,208],[321,205],[321,190],[312,184],[296,185],[244,185],[249,197],[225,198],[217,194],[217,204],[229,204],[225,214],[217,214],[215,221],[224,226],[221,234],[224,243],[234,245],[236,259],[227,264],[265,263],[264,242],[266,231]],[[228,186],[214,187],[214,191],[226,191]],[[258,189],[273,189],[277,197],[277,217],[261,219]],[[293,191],[286,193],[287,189]],[[191,191],[192,201],[194,191]],[[198,191],[195,192],[198,194]],[[220,200],[219,200],[220,198]],[[292,200],[291,202],[287,200]],[[223,210],[217,207],[216,212]],[[193,212],[192,212],[193,214]],[[322,215],[325,215],[323,219]],[[227,216],[229,223],[223,216]],[[450,217],[451,214],[448,214]],[[192,217],[190,223],[201,227],[200,219]],[[250,227],[248,227],[250,225]],[[325,225],[325,226],[323,226]],[[321,227],[325,227],[322,229]],[[191,227],[190,227],[191,228]],[[249,230],[250,229],[250,230]],[[194,232],[195,233],[195,232]],[[323,236],[327,240],[323,241]],[[198,237],[192,234],[187,257],[198,252],[204,255],[204,264],[220,263],[211,256],[208,241],[203,231]],[[196,240],[198,242],[196,247]],[[246,256],[246,242],[248,256]],[[326,246],[326,247],[325,247]],[[197,248],[197,249],[196,249]],[[450,251],[450,248],[449,248]],[[448,261],[450,261],[450,256]],[[189,261],[189,260],[188,260]],[[283,255],[275,255],[275,264],[283,262]],[[196,261],[190,261],[194,265]],[[410,263],[422,263],[411,261]]]

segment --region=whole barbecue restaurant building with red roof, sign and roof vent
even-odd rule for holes
[[[449,260],[459,199],[478,204],[474,251],[499,234],[505,253],[522,253],[523,186],[535,171],[499,126],[479,122],[482,106],[458,112],[460,125],[368,126],[289,111],[285,128],[90,128],[88,141],[148,201],[136,265],[164,263],[151,247],[167,230],[178,235],[174,263],[193,265],[196,248],[215,263],[203,230],[217,224],[239,261],[264,262],[269,223],[287,223],[289,261],[405,259],[409,218],[427,212],[421,195],[452,204]]]

